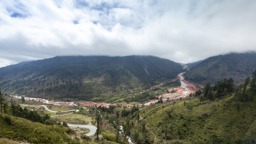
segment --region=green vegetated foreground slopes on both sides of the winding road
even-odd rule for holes
[[[256,144],[255,101],[256,71],[253,78],[247,77],[241,84],[235,85],[232,79],[219,80],[215,86],[208,83],[202,91],[197,90],[185,99],[163,102],[160,98],[156,104],[143,108],[74,108],[80,110],[79,114],[93,117],[92,124],[98,128],[98,138],[94,136],[93,140],[81,135],[82,139],[88,139],[82,143],[125,144],[129,136],[136,144],[248,144],[252,136],[252,144]],[[8,108],[7,113],[12,115],[12,105]],[[27,117],[26,110],[19,106],[14,108],[16,114],[28,119],[34,114],[29,112]],[[38,117],[44,124],[51,121]],[[5,114],[0,117],[0,124],[1,138],[35,140],[33,143],[74,143],[66,137],[70,129],[62,126],[43,125]],[[34,134],[40,137],[34,138]]]

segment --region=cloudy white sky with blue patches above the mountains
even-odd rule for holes
[[[256,51],[256,0],[0,0],[0,67],[54,56],[189,63]]]

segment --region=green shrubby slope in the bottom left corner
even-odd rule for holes
[[[0,137],[12,138],[16,140],[28,140],[31,143],[56,144],[69,141],[68,128],[59,126],[46,126],[38,122],[31,122],[24,118],[10,116],[11,124],[4,121],[4,116],[0,116]]]

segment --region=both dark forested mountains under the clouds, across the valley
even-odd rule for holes
[[[187,66],[188,72],[154,56],[56,56],[0,68],[0,86],[5,94],[101,101],[173,80],[180,72],[201,85],[225,78],[240,83],[256,70],[256,52],[213,56]]]

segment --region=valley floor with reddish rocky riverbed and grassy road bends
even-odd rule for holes
[[[158,97],[162,97],[163,102],[166,102],[168,100],[185,98],[186,96],[188,96],[188,94],[193,93],[199,89],[194,84],[191,84],[191,83],[185,81],[183,74],[184,74],[184,72],[178,74],[177,78],[172,80],[172,81],[180,80],[181,86],[168,89],[169,93],[161,94],[158,96]],[[164,84],[165,84],[165,82],[162,82],[161,84],[152,86],[151,88],[148,88],[147,90],[144,90],[143,92],[153,90],[154,88],[161,88],[161,86],[163,86]],[[172,90],[174,90],[175,92],[170,93],[170,91],[172,91]],[[137,95],[140,93],[142,93],[142,92],[139,92],[139,93],[136,93],[133,95]],[[20,104],[20,105],[23,108],[28,108],[30,110],[36,110],[38,112],[40,112],[40,110],[43,110],[42,109],[42,107],[43,107],[46,110],[46,111],[43,110],[44,113],[47,113],[51,118],[54,118],[57,121],[58,121],[58,117],[60,117],[60,121],[66,122],[67,126],[74,129],[78,135],[81,135],[81,132],[80,132],[81,128],[88,129],[88,132],[84,133],[84,131],[82,131],[82,133],[84,133],[86,136],[90,136],[90,137],[92,137],[97,130],[96,126],[92,125],[92,123],[95,124],[93,117],[90,114],[88,116],[76,114],[76,113],[79,113],[79,109],[72,109],[72,108],[80,107],[86,111],[89,111],[88,107],[109,108],[109,106],[119,106],[121,108],[122,107],[132,108],[133,106],[139,106],[139,107],[148,106],[150,104],[154,104],[159,101],[159,99],[155,99],[155,100],[150,100],[148,102],[131,105],[131,104],[122,104],[122,103],[118,104],[118,103],[106,103],[106,102],[90,102],[90,101],[81,101],[81,100],[72,101],[72,102],[62,102],[62,101],[58,101],[58,100],[46,100],[46,99],[42,99],[42,98],[29,98],[29,97],[24,97],[24,96],[15,96],[15,95],[10,95],[10,97],[17,98],[20,100],[22,98],[24,98],[25,101],[30,101],[30,102],[34,101],[34,102],[40,102],[42,104],[47,104],[47,105],[28,105],[28,104]],[[50,108],[48,108],[48,106],[50,106]],[[83,124],[84,122],[86,122],[86,124]],[[120,129],[119,133],[121,134],[122,125],[120,125],[120,128],[121,129]],[[130,137],[127,137],[127,138],[129,138],[129,140],[128,140],[129,144],[133,144]]]

